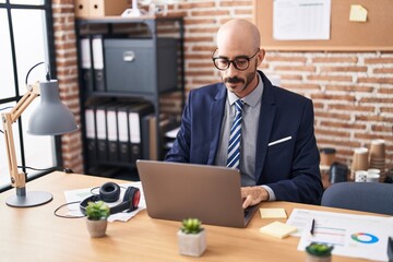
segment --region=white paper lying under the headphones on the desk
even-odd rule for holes
[[[134,187],[134,188],[139,188],[141,191],[141,199],[140,199],[140,203],[138,206],[138,210],[133,211],[133,212],[120,212],[117,214],[112,214],[108,217],[109,222],[114,222],[114,221],[122,221],[122,222],[128,222],[131,217],[135,216],[140,211],[145,210],[146,209],[146,202],[144,199],[144,194],[143,194],[143,189],[142,189],[142,183],[141,182],[130,182],[130,183],[120,183],[119,184],[121,188],[121,193],[120,193],[120,198],[118,201],[114,202],[114,203],[107,203],[109,205],[109,207],[118,205],[119,203],[122,202],[123,198],[124,198],[124,192],[126,189],[128,187]],[[98,190],[99,188],[97,188],[96,190],[93,190],[94,194],[98,194]],[[86,188],[86,189],[76,189],[76,190],[69,190],[69,191],[64,191],[66,194],[66,201],[67,203],[71,203],[71,202],[81,202],[84,199],[93,195],[92,194],[92,189],[91,188]],[[70,204],[68,205],[69,207],[69,213],[67,215],[70,216],[81,216],[81,210],[80,210],[80,204]]]

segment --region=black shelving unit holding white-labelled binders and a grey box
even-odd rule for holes
[[[163,134],[184,104],[182,17],[80,19],[75,31],[85,172],[163,159]],[[180,110],[166,112],[160,100],[172,94]]]

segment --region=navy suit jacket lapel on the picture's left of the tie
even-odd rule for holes
[[[214,97],[214,102],[212,103],[212,106],[210,108],[211,144],[209,150],[207,165],[213,165],[217,153],[221,128],[224,116],[225,100],[226,100],[226,87],[224,86],[224,84],[219,84],[217,95]]]

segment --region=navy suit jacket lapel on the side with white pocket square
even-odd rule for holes
[[[276,107],[273,95],[272,83],[262,73],[263,95],[261,105],[261,116],[259,119],[259,129],[257,138],[257,155],[255,155],[255,181],[258,182],[263,170],[263,165],[266,158],[267,144],[273,128]]]

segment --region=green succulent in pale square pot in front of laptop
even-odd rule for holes
[[[177,233],[180,254],[200,257],[206,250],[206,233],[198,218],[182,221]]]

